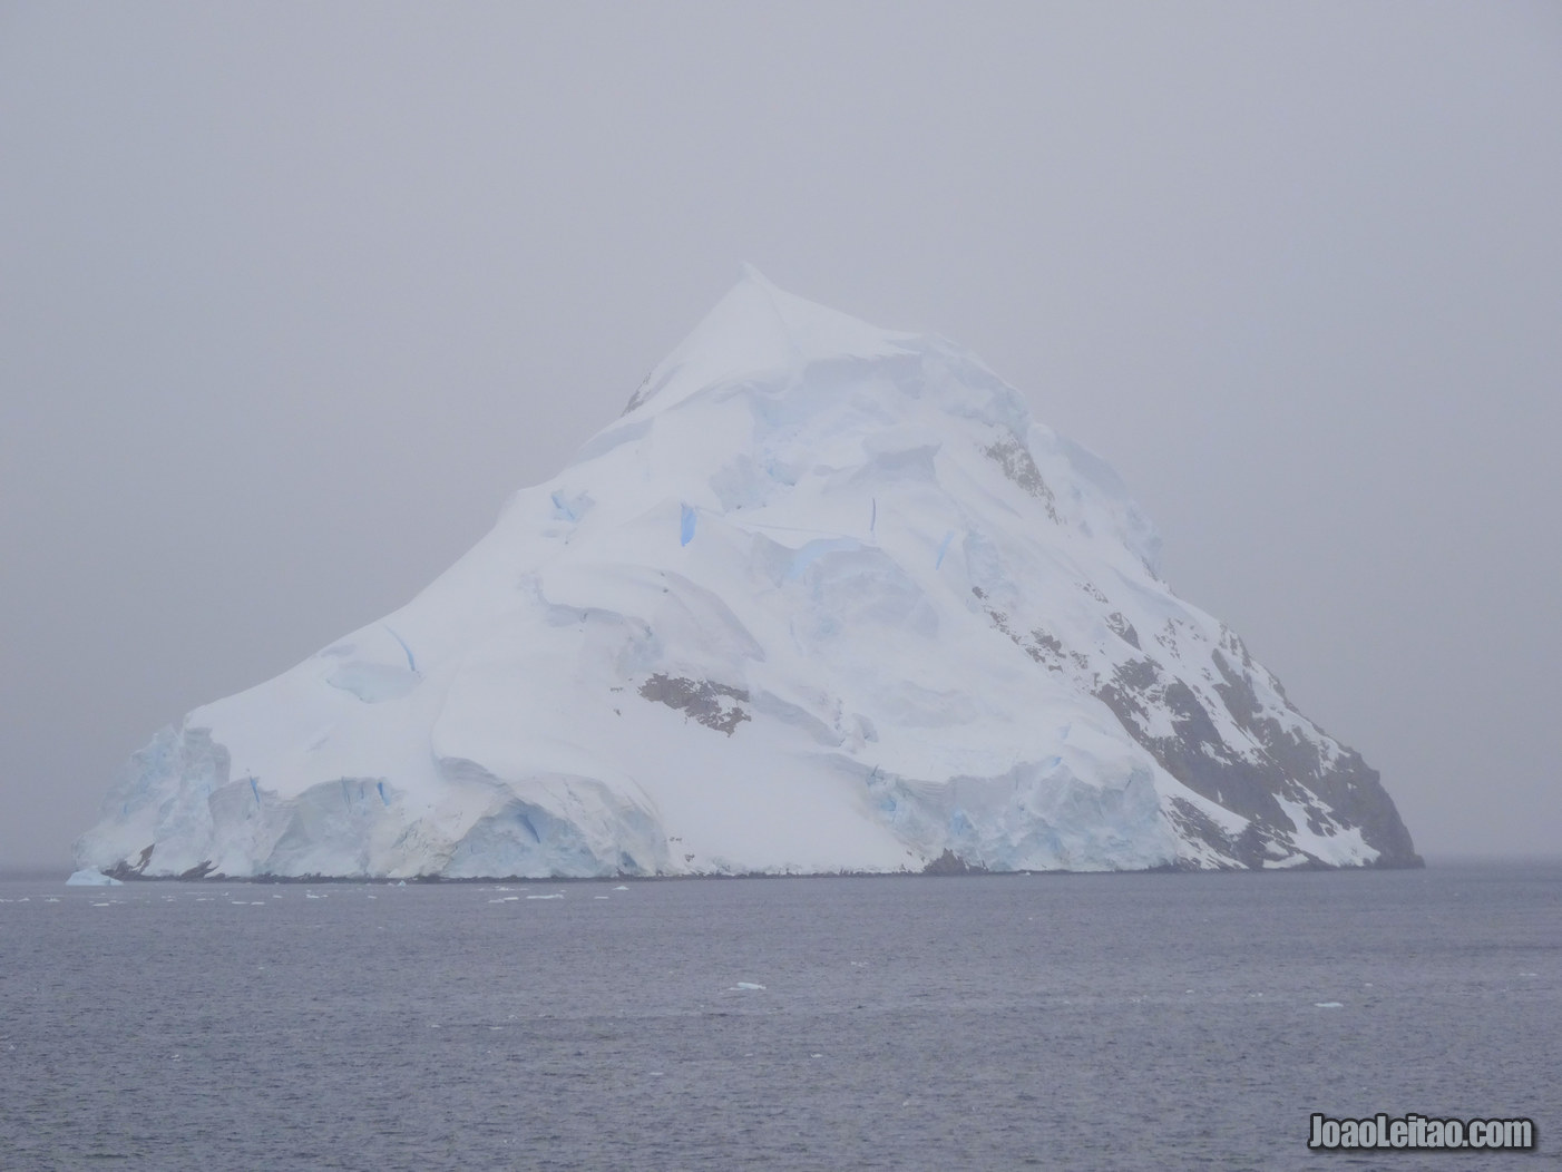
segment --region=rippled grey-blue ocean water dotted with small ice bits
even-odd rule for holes
[[[3,1169],[1562,1163],[1562,864],[0,900]]]

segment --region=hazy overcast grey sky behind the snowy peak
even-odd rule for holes
[[[0,3],[0,867],[751,261],[1106,456],[1434,863],[1557,853],[1562,6]]]

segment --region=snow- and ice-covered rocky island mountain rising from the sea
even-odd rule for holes
[[[758,272],[397,613],[134,753],[77,866],[1418,866],[1376,772],[961,347]]]

